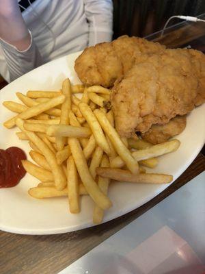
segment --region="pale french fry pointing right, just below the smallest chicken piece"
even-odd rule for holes
[[[176,151],[180,146],[180,141],[177,139],[169,140],[167,142],[162,142],[159,145],[153,145],[152,147],[148,147],[148,149],[139,149],[137,151],[132,152],[133,158],[136,161],[146,160],[154,157],[158,157],[172,151]],[[116,157],[111,160],[111,167],[119,168],[124,166],[124,162],[120,157]]]

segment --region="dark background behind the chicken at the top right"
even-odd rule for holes
[[[173,15],[197,16],[205,12],[205,0],[113,0],[113,38],[147,36],[163,29]],[[173,19],[170,25],[181,22]]]

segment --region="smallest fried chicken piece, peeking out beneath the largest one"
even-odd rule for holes
[[[165,142],[180,134],[187,124],[186,116],[176,116],[165,125],[152,125],[144,134],[141,134],[143,140],[151,142],[153,145]]]

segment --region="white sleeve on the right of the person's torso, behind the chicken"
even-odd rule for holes
[[[110,42],[113,35],[112,0],[84,0],[85,16],[90,25],[89,46]]]

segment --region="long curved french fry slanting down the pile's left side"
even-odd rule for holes
[[[23,131],[25,134],[27,134],[29,140],[33,142],[36,147],[41,151],[41,153],[46,158],[46,161],[49,163],[49,166],[51,166],[51,171],[53,173],[54,181],[55,181],[55,187],[57,190],[62,190],[66,187],[66,176],[64,174],[63,169],[61,166],[57,164],[57,160],[55,158],[55,154],[49,147],[45,144],[45,142],[39,138],[34,132],[28,132],[23,127],[23,120],[16,119],[16,125]]]

